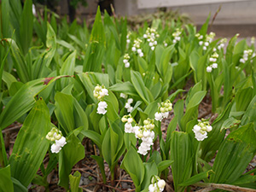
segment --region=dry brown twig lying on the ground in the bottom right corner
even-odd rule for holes
[[[223,189],[227,191],[235,191],[235,192],[256,192],[256,189],[242,188],[236,185],[231,184],[220,184],[220,183],[195,183],[193,184],[197,187],[202,188],[213,188],[213,189]],[[206,191],[205,191],[206,192]]]

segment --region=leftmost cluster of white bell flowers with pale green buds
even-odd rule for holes
[[[61,151],[61,148],[63,148],[67,143],[66,138],[62,136],[61,131],[57,130],[55,127],[49,131],[49,133],[46,135],[46,139],[51,142],[55,142],[50,147],[51,153],[55,154],[58,154]]]

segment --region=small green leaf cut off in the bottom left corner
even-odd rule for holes
[[[6,166],[0,169],[0,177],[1,192],[13,192],[14,183],[11,180],[10,166]]]

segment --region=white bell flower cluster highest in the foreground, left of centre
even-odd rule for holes
[[[108,90],[104,87],[104,85],[96,85],[95,89],[93,90],[93,96],[95,96],[99,101],[97,112],[99,114],[105,114],[107,113],[106,108],[108,107],[107,102],[103,102],[104,96],[108,96]]]

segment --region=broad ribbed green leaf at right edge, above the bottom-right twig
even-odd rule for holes
[[[253,124],[232,131],[218,149],[210,182],[233,183],[241,177],[256,153],[255,139]]]

